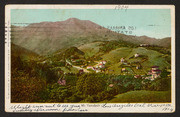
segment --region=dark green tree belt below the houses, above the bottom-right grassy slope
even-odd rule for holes
[[[154,81],[135,79],[134,76],[82,74],[66,75],[67,85],[58,83],[48,85],[41,94],[40,102],[101,102],[111,100],[115,95],[135,90],[170,90],[170,79],[159,78]],[[112,87],[109,84],[113,84]]]

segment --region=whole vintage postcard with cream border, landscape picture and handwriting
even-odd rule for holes
[[[172,113],[173,5],[6,5],[5,111]]]

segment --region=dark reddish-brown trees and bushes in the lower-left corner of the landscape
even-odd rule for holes
[[[25,61],[20,56],[11,56],[11,62],[12,102],[36,102],[47,84],[57,82],[58,75],[47,64]]]

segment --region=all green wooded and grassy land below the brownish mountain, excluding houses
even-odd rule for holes
[[[97,48],[95,47],[93,51],[83,45],[80,47],[83,51],[71,47],[40,57],[12,45],[11,101],[21,103],[171,101],[170,72],[165,69],[170,66],[171,60],[168,50],[160,54],[159,47],[142,48],[121,41],[96,42],[94,46]],[[135,58],[135,53],[141,55]],[[122,57],[127,60],[126,65],[121,64]],[[95,61],[102,59],[107,61],[104,72],[79,73],[79,70],[73,67],[73,65],[76,67],[94,65]],[[69,64],[67,61],[75,62]],[[160,78],[151,81],[134,77],[138,74],[147,75],[149,66],[156,63],[162,68]],[[135,69],[136,65],[142,68]],[[128,69],[129,72],[122,73],[120,71],[122,68]],[[59,84],[59,79],[64,79],[66,84]]]

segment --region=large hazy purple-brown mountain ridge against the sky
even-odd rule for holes
[[[108,29],[89,20],[76,18],[58,22],[33,23],[25,27],[12,27],[11,36],[13,43],[44,55],[71,46],[79,47],[94,41],[123,40],[135,44],[160,44],[164,47],[169,47],[171,40],[167,38],[160,41],[146,36],[127,36],[110,32]]]

